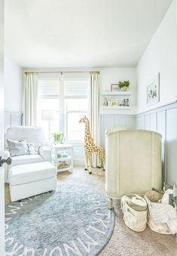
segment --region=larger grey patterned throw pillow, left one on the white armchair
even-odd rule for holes
[[[10,156],[29,155],[28,145],[25,139],[23,140],[7,140]]]

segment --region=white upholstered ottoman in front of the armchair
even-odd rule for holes
[[[12,166],[9,171],[11,201],[56,190],[56,167],[50,162]]]

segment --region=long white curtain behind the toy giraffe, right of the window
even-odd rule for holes
[[[90,130],[96,145],[100,145],[100,125],[99,125],[99,73],[90,73]],[[93,167],[99,165],[98,157],[93,155]]]

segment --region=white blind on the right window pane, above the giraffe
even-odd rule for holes
[[[87,97],[90,87],[88,74],[68,74],[64,76],[65,97]]]

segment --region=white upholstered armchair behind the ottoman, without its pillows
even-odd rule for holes
[[[5,134],[5,159],[10,156],[8,151],[8,140],[26,139],[28,143],[33,143],[38,154],[11,157],[12,164],[5,167],[5,182],[8,182],[8,170],[16,165],[28,165],[37,162],[51,162],[51,150],[45,146],[44,133],[41,127],[14,126],[8,128]]]

